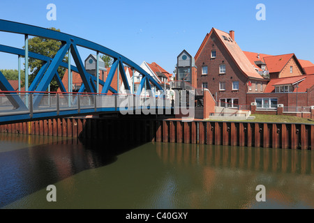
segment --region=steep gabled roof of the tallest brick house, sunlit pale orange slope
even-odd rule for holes
[[[257,73],[257,71],[253,68],[252,63],[248,60],[244,52],[241,50],[239,45],[237,45],[236,41],[232,40],[229,33],[226,33],[224,31],[220,31],[218,29],[211,29],[211,32],[208,33],[203,42],[200,46],[200,49],[198,49],[197,54],[195,55],[195,61],[197,60],[198,56],[202,52],[202,49],[207,43],[207,40],[209,40],[210,36],[215,33],[215,35],[218,37],[218,40],[220,43],[223,44],[223,47],[227,49],[227,52],[230,54],[231,58],[234,60],[234,63],[239,67],[239,69],[246,75],[247,77],[253,77],[257,79],[264,79],[261,75]]]

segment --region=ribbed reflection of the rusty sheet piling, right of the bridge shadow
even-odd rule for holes
[[[277,173],[313,174],[314,153],[274,148],[156,143],[160,159],[178,166],[239,168]]]

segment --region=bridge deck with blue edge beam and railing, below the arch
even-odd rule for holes
[[[14,107],[10,97],[18,97],[27,107]],[[0,123],[28,121],[56,116],[83,116],[105,112],[156,114],[156,109],[171,109],[169,99],[123,94],[37,94],[0,96]]]

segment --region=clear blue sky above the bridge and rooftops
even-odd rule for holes
[[[49,3],[57,7],[55,21],[47,20]],[[256,19],[258,3],[266,7],[266,20]],[[294,53],[314,63],[313,8],[313,0],[1,0],[0,19],[55,27],[172,73],[181,51],[195,56],[212,27],[234,30],[244,51]],[[3,45],[22,47],[23,38],[0,32]],[[82,59],[88,54],[82,52]],[[0,69],[11,68],[17,68],[17,56],[0,53]]]

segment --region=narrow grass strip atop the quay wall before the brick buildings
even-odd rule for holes
[[[313,119],[300,118],[295,116],[279,116],[268,114],[253,114],[255,116],[252,120],[245,120],[246,122],[262,122],[262,123],[307,123],[314,124]]]

